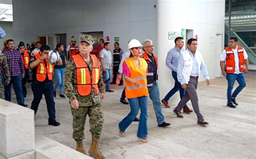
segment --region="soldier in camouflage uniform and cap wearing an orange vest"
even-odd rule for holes
[[[77,142],[76,150],[85,154],[82,140],[84,139],[85,119],[88,114],[90,118],[90,132],[92,134],[92,144],[89,154],[96,158],[104,158],[104,155],[98,149],[98,141],[100,134],[102,133],[104,122],[102,110],[102,99],[104,99],[103,71],[97,57],[95,55],[90,55],[90,52],[93,49],[93,44],[94,39],[91,35],[81,35],[79,54],[73,55],[66,66],[64,74],[64,89],[66,96],[69,98],[71,112],[73,115],[73,139]],[[79,59],[80,61],[76,62],[76,59]],[[86,63],[86,67],[83,68],[88,71],[86,77],[85,75],[82,76],[82,81],[83,79],[86,80],[86,83],[84,83],[83,86],[86,86],[85,84],[87,84],[90,89],[78,88],[82,85],[79,82],[79,75],[82,74],[79,71],[81,67],[78,66],[81,63]],[[98,64],[99,66],[96,68],[98,69],[98,79],[94,74],[95,64]],[[96,81],[95,85],[93,85],[93,81]],[[86,92],[87,95],[85,95]],[[84,95],[82,95],[83,93]]]

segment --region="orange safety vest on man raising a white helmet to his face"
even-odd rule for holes
[[[41,57],[40,53],[33,53],[36,57],[36,59],[39,59]],[[50,64],[48,60],[46,60],[46,66],[45,61],[41,60],[40,63],[37,66],[36,71],[36,79],[39,82],[43,82],[46,79],[46,74],[48,76],[48,79],[52,79],[52,72],[53,72],[54,65]]]

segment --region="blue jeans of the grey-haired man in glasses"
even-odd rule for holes
[[[161,125],[164,122],[164,115],[161,109],[158,84],[154,82],[153,86],[147,87],[147,90],[149,90],[150,99],[153,102],[154,112],[156,113],[158,125]]]

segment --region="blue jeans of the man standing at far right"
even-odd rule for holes
[[[242,89],[245,88],[245,86],[246,86],[245,75],[244,75],[244,73],[227,74],[226,79],[227,79],[227,84],[228,84],[228,86],[227,86],[227,103],[231,103],[231,101],[232,101],[231,98],[237,97],[238,93]],[[235,91],[232,94],[232,89],[233,89],[235,80],[237,80],[237,82],[239,83],[239,86],[235,89]]]

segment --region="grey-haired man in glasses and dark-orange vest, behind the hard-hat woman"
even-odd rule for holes
[[[153,102],[154,112],[156,113],[158,127],[168,127],[171,124],[164,121],[164,115],[161,110],[160,93],[157,84],[157,56],[153,54],[154,45],[152,40],[146,39],[143,42],[145,52],[143,57],[147,62],[147,90],[149,91],[150,99]]]

